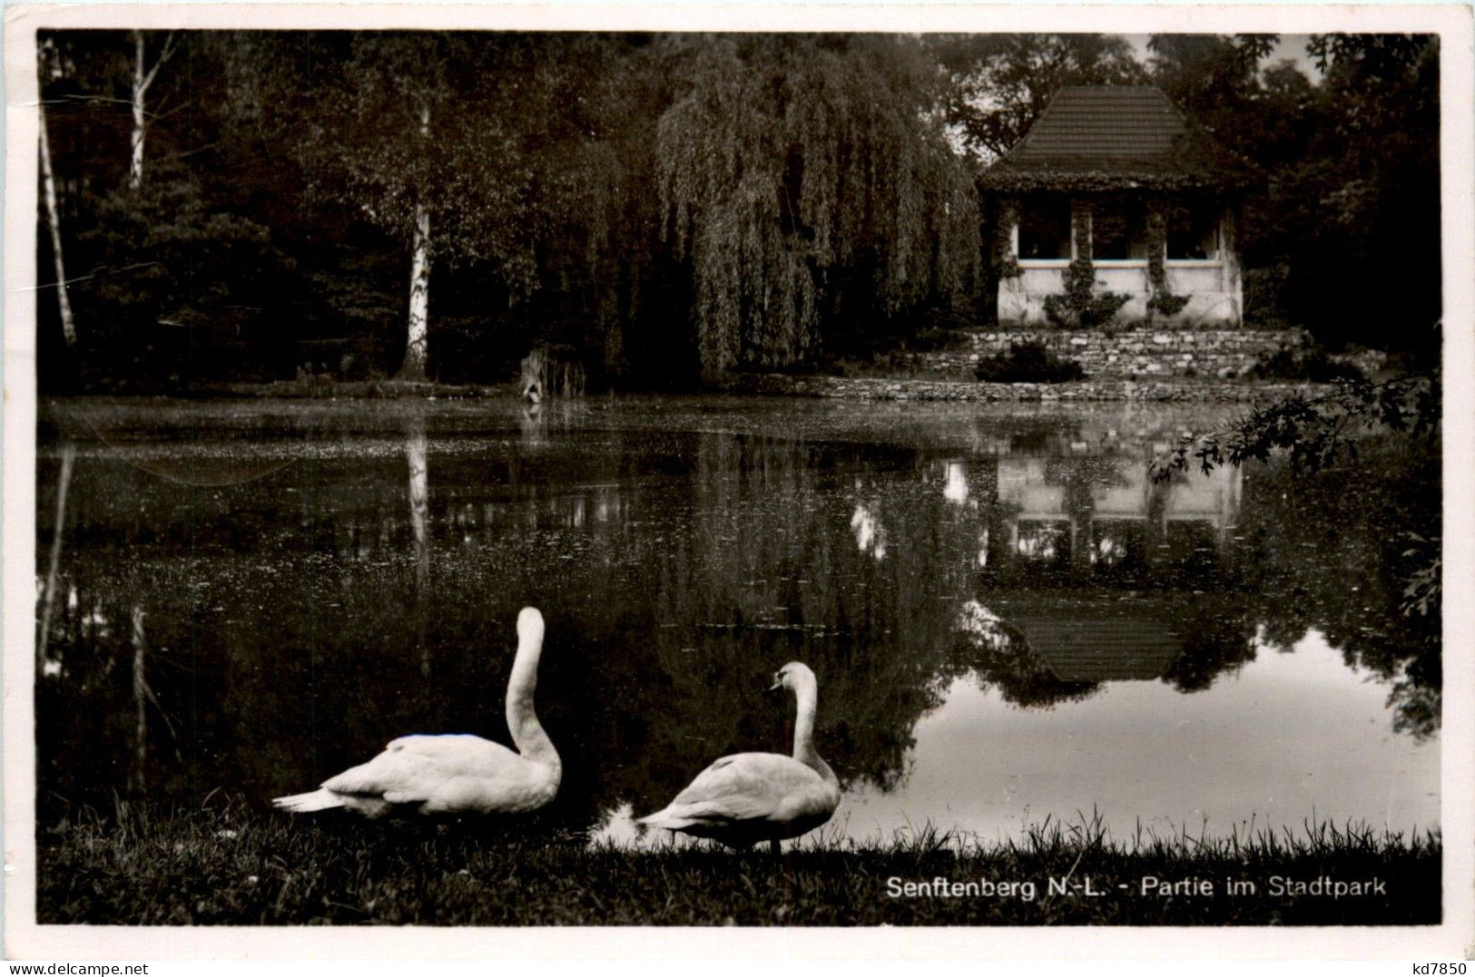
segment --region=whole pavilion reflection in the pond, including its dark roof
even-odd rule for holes
[[[1171,673],[1184,653],[1176,607],[1232,551],[1240,469],[1159,482],[1146,451],[1030,448],[943,466],[943,497],[990,513],[979,566],[990,567],[990,604],[1013,637],[1007,654],[978,662],[981,673],[1019,704]],[[1018,570],[1034,582],[1015,579]],[[1122,584],[1149,589],[1130,598],[1094,589]]]

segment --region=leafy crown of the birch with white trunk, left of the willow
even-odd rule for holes
[[[375,31],[307,44],[322,63],[292,131],[313,190],[403,239],[425,206],[440,261],[496,259],[510,290],[531,290],[532,106],[519,93],[538,80],[513,80],[515,41]]]

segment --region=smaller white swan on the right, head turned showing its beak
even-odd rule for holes
[[[798,704],[794,756],[735,753],[717,760],[676,796],[664,810],[639,824],[714,838],[735,849],[767,840],[774,853],[780,838],[795,838],[820,827],[839,805],[839,781],[814,752],[814,672],[789,662],[773,676],[773,688],[791,688]]]

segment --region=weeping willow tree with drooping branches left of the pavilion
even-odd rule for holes
[[[975,196],[914,38],[689,44],[656,172],[705,371],[799,363],[836,330],[968,295]]]

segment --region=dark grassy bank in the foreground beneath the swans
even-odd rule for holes
[[[1046,824],[1006,843],[923,830],[864,847],[822,838],[777,861],[767,850],[590,849],[580,836],[525,827],[537,840],[507,840],[485,824],[366,824],[335,816],[294,822],[240,806],[108,819],[81,815],[38,833],[38,917],[41,922],[237,925],[1440,920],[1438,836],[1407,838],[1326,824],[1252,837],[1128,841],[1111,841],[1090,821]],[[940,897],[912,889],[909,894],[909,883],[938,877],[1013,883],[1013,892]],[[1360,881],[1367,892],[1336,899],[1276,894],[1273,877]],[[1063,880],[1065,894],[1052,894],[1052,878]],[[1161,884],[1145,893],[1145,878]],[[1210,881],[1212,893],[1180,880]],[[1251,881],[1257,892],[1229,894],[1226,880]],[[1164,889],[1171,883],[1180,884]]]

